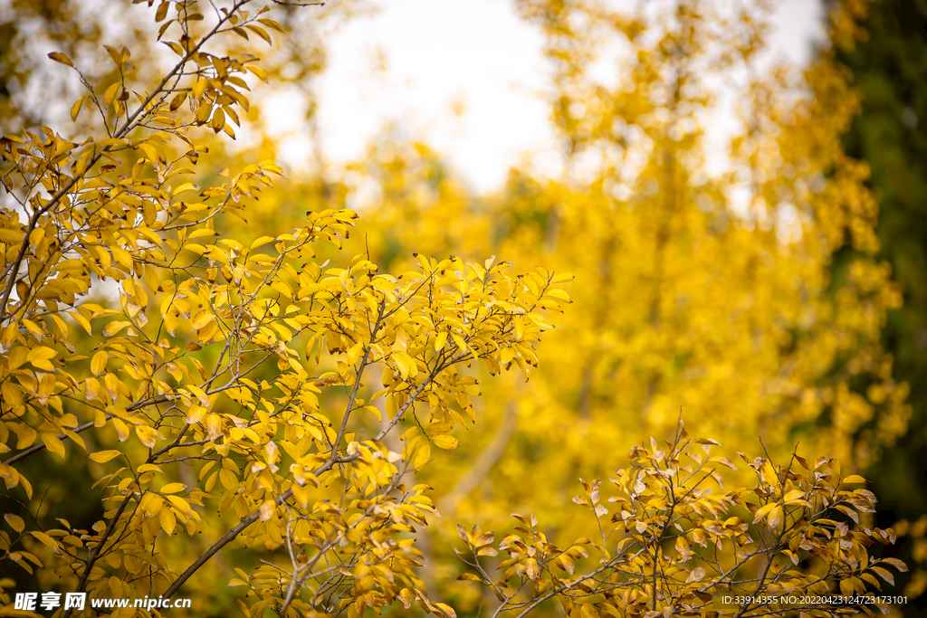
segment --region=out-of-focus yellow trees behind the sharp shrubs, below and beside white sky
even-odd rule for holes
[[[831,52],[802,72],[767,68],[768,6],[755,3],[518,6],[554,69],[562,177],[512,170],[500,194],[475,197],[436,153],[392,136],[346,177],[383,223],[366,241],[379,259],[491,252],[577,275],[532,382],[487,384],[477,415],[491,431],[422,474],[444,523],[532,511],[568,542],[576,478],[672,435],[680,406],[738,448],[762,436],[780,458],[796,442],[859,467],[877,458],[907,430],[908,385],[879,345],[900,296],[872,257],[866,165],[840,145],[857,94]],[[842,16],[830,28],[853,36]],[[843,263],[843,247],[861,257]]]

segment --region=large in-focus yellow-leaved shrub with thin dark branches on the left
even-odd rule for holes
[[[276,22],[250,4],[217,8],[202,30],[196,3],[161,3],[157,21],[176,17],[159,36],[179,35],[167,44],[180,60],[143,94],[129,50],[108,48],[119,79],[102,98],[84,80],[90,94],[71,113],[92,103],[105,136],[2,140],[13,208],[0,213],[0,477],[28,512],[24,462],[85,456],[103,513],[90,529],[10,514],[0,561],[92,598],[171,597],[240,537],[267,556],[231,583],[248,587],[248,615],[355,616],[393,599],[452,615],[413,572],[422,554],[408,533],[436,511],[403,474],[432,447],[456,448],[452,432],[474,421],[467,367],[529,375],[552,327],[542,312],[569,300],[558,285],[571,276],[513,276],[494,259],[420,257],[400,276],[364,256],[346,268],[314,260],[349,236],[349,209],[307,212],[290,233],[223,237],[220,215],[243,218],[282,174],[265,161],[192,182],[206,154],[196,127],[234,137],[243,75],[263,76],[256,57],[205,51],[225,32],[269,40],[258,24]],[[383,388],[362,391],[374,371]],[[384,439],[401,427],[397,453]],[[211,544],[189,564],[159,550],[204,531]]]

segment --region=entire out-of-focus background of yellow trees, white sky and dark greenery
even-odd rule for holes
[[[156,74],[154,9],[127,6],[0,0],[0,131],[93,126],[89,114],[71,122],[80,84],[50,51],[103,77],[101,44],[126,44],[142,76]],[[247,224],[223,225],[280,233],[307,209],[348,207],[362,226],[345,252],[387,271],[417,251],[577,276],[539,370],[527,384],[479,376],[476,427],[422,473],[444,515],[421,539],[439,597],[460,615],[484,600],[454,581],[455,523],[502,528],[533,512],[575,537],[578,477],[607,477],[681,410],[731,450],[756,454],[762,437],[775,456],[798,445],[871,478],[873,523],[895,525],[889,551],[917,566],[896,582],[909,597],[898,609],[922,615],[927,3],[342,0],[282,12],[289,36],[240,42],[269,58],[270,84],[253,84],[235,143],[210,148],[229,168],[276,158],[290,178]],[[33,465],[72,523],[98,518],[94,501],[63,499],[80,466]],[[222,588],[256,560],[232,554],[199,585]],[[223,594],[214,615],[236,611]]]

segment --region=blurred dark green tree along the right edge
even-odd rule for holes
[[[902,530],[921,537],[903,546],[906,557],[921,561],[908,593],[920,595],[908,608],[911,615],[927,606],[927,448],[921,427],[927,419],[927,8],[920,2],[883,0],[852,16],[863,36],[852,44],[837,40],[839,60],[853,71],[854,87],[862,95],[861,111],[844,136],[849,155],[865,159],[868,182],[879,196],[879,256],[892,265],[901,284],[904,305],[888,313],[883,346],[895,359],[895,379],[911,385],[911,429],[897,447],[884,453],[871,468],[883,497],[883,523],[908,519]],[[849,252],[846,252],[847,254]],[[835,260],[843,268],[849,255]]]

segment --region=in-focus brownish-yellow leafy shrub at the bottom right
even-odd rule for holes
[[[534,516],[514,515],[522,525],[497,550],[491,533],[460,526],[467,550],[458,556],[476,570],[460,579],[491,588],[499,600],[493,615],[527,615],[556,597],[571,618],[834,616],[871,615],[876,603],[854,598],[878,595],[881,581],[894,585],[886,567],[908,570],[870,554],[876,542],[895,543],[895,533],[865,524],[876,498],[848,487],[867,481],[841,477],[835,460],[810,465],[794,454],[777,465],[738,453],[756,486],[725,491],[719,471],[736,467],[711,454],[717,441],[692,439],[680,422],[673,441],[652,438],[651,446],[631,449],[629,467],[609,478],[610,518],[601,480],[583,483],[573,498],[591,511],[600,540],[580,537],[560,549]],[[500,553],[496,579],[481,557]]]

